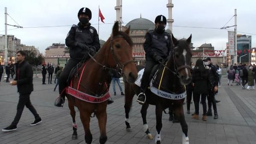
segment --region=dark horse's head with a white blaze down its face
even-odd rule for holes
[[[172,42],[174,44],[174,50],[172,52],[172,58],[175,63],[175,71],[179,73],[180,83],[189,84],[191,82],[191,49],[189,44],[191,43],[192,35],[189,36],[186,40],[177,40],[172,35]]]

